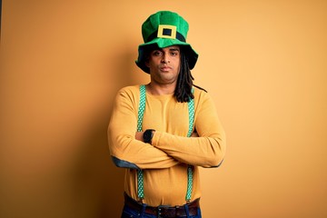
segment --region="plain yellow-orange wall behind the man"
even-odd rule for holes
[[[327,1],[3,1],[0,216],[119,217],[106,128],[158,10],[189,22],[227,134],[204,218],[327,217]]]

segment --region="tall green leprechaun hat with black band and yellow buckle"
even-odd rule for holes
[[[150,47],[164,48],[172,45],[183,46],[188,60],[190,69],[192,70],[198,54],[193,50],[191,45],[186,43],[186,36],[189,25],[182,16],[170,12],[159,11],[154,15],[150,15],[142,25],[142,35],[144,44],[138,47],[138,59],[136,65],[145,73],[150,73],[150,69],[145,65],[144,50]]]

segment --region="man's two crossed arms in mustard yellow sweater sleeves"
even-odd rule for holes
[[[124,92],[117,95],[108,129],[110,152],[117,166],[162,169],[180,163],[214,167],[222,162],[225,136],[210,99],[201,102],[193,137],[155,131],[152,144],[143,142],[143,132],[135,133],[134,108],[133,97]]]

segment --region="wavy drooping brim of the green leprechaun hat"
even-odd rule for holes
[[[155,38],[151,42],[139,45],[138,47],[138,58],[135,61],[135,64],[140,67],[145,73],[149,74],[150,69],[145,65],[145,50],[148,48],[164,48],[172,45],[179,45],[183,46],[183,51],[185,55],[187,56],[188,64],[190,67],[190,70],[193,69],[193,67],[196,64],[196,61],[198,59],[199,54],[197,54],[191,45],[187,43],[183,43],[178,39],[170,39],[170,38]]]

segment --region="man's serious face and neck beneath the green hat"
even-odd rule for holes
[[[154,84],[176,84],[180,72],[181,51],[178,45],[152,51],[145,63]]]

